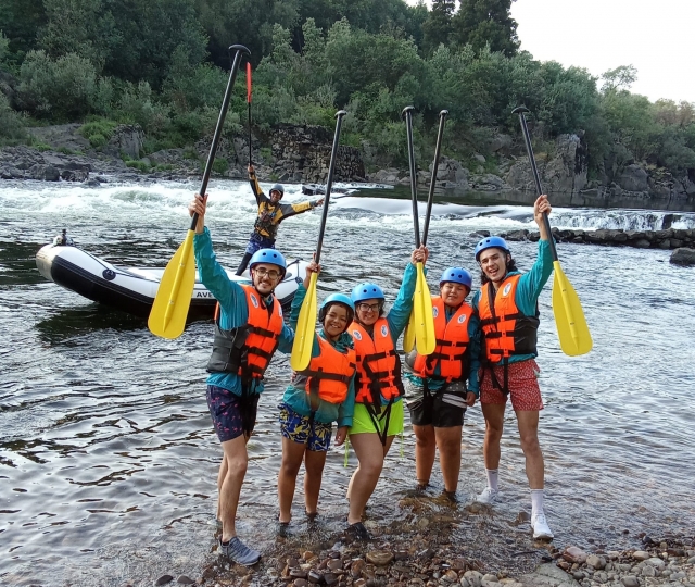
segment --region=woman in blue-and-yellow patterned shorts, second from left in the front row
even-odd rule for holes
[[[296,327],[299,313],[312,273],[320,267],[309,263],[306,279],[292,300],[290,325]],[[330,447],[332,423],[338,423],[336,445],[345,441],[355,405],[355,351],[348,327],[355,307],[344,294],[328,296],[318,311],[321,328],[314,336],[312,360],[304,371],[294,373],[280,404],[282,464],[278,473],[279,532],[285,534],[292,519],[296,475],[304,461],[304,508],[313,519]]]

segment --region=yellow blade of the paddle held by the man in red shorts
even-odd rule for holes
[[[577,357],[586,354],[593,347],[589,326],[579,297],[569,283],[559,261],[554,261],[553,314],[557,326],[557,337],[565,354]]]

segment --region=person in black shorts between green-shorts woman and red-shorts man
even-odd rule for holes
[[[418,489],[430,480],[439,450],[444,494],[456,499],[460,472],[460,439],[466,408],[478,398],[480,333],[478,317],[466,303],[472,278],[462,267],[448,267],[432,297],[434,352],[415,353],[408,378],[408,409],[415,433],[415,472]],[[466,382],[469,385],[466,385]]]

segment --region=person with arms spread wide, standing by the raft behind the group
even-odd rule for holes
[[[273,249],[275,248],[275,239],[278,234],[278,226],[280,222],[290,216],[295,216],[307,210],[313,210],[317,205],[324,203],[324,198],[319,198],[313,202],[299,202],[293,204],[281,204],[280,200],[285,196],[285,188],[280,184],[275,184],[270,188],[270,197],[268,198],[261,186],[258,179],[256,179],[256,173],[253,165],[249,165],[249,180],[251,182],[251,189],[256,197],[256,203],[258,204],[258,215],[256,222],[253,225],[253,233],[247,245],[247,250],[239,267],[237,268],[237,275],[241,275],[249,264],[251,257],[258,249]]]

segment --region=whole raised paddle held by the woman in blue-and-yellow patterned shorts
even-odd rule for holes
[[[340,142],[340,126],[343,116],[348,114],[344,110],[336,113],[336,135],[333,136],[333,148],[330,153],[330,164],[328,165],[328,179],[326,180],[326,195],[324,196],[324,213],[321,224],[318,229],[318,242],[314,261],[318,264],[324,245],[324,232],[326,230],[326,220],[328,218],[328,202],[330,201],[330,189],[333,184],[333,170],[336,168],[336,157],[338,155],[338,143]],[[294,371],[305,370],[312,361],[312,347],[314,346],[314,334],[316,332],[316,273],[312,273],[308,282],[306,296],[302,302],[300,315],[294,330],[294,342],[292,344],[292,354],[290,355],[290,366]]]

